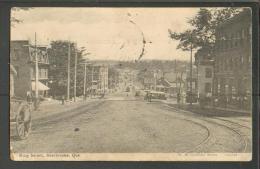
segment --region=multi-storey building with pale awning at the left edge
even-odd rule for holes
[[[10,43],[10,61],[17,74],[14,83],[15,96],[25,98],[27,92],[35,91],[35,47],[28,40],[15,40]],[[37,47],[39,95],[44,97],[49,90],[47,47]]]

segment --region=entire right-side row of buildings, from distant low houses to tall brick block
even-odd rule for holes
[[[141,79],[144,88],[174,97],[179,93],[187,98],[190,93],[195,97],[193,102],[203,105],[250,109],[251,23],[251,11],[247,9],[226,20],[216,29],[214,51],[199,49],[196,52],[192,77],[190,65],[181,71],[146,71],[142,72]]]

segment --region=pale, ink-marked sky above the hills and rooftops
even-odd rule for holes
[[[135,60],[143,37],[147,42],[142,59],[188,60],[189,52],[177,50],[178,41],[168,29],[190,28],[188,19],[199,8],[101,8],[40,7],[12,11],[22,20],[11,28],[11,40],[30,40],[48,45],[52,40],[70,40],[85,47],[89,59]],[[135,24],[133,24],[132,22]]]

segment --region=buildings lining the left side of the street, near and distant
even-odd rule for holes
[[[39,96],[43,98],[51,95],[49,92],[52,91],[50,89],[53,80],[49,78],[49,68],[52,64],[49,62],[49,58],[54,56],[48,54],[48,47],[35,47],[28,40],[14,40],[10,43],[11,96],[26,98],[28,93],[31,93],[33,96],[35,95],[36,51],[38,58],[37,86]],[[108,66],[104,64],[91,64],[91,73],[88,77],[88,92],[105,93],[108,90]],[[66,93],[62,95],[66,95]]]

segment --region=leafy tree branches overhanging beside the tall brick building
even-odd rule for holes
[[[170,38],[179,41],[177,49],[186,51],[192,44],[194,49],[203,48],[212,52],[217,26],[240,11],[239,8],[200,8],[196,16],[188,21],[193,28],[181,33],[169,29]]]

